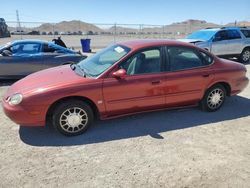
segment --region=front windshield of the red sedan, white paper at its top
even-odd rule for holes
[[[127,55],[129,51],[128,47],[113,45],[82,60],[78,65],[87,76],[97,77]]]

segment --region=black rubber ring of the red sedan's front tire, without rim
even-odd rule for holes
[[[65,112],[65,110],[69,108],[73,108],[73,107],[78,107],[78,108],[83,109],[87,113],[88,122],[87,122],[87,125],[81,131],[76,132],[76,133],[69,133],[63,130],[62,127],[60,126],[60,117],[62,113]],[[90,127],[93,121],[94,121],[93,110],[87,103],[83,101],[79,101],[79,100],[68,100],[59,104],[55,108],[53,116],[52,116],[52,123],[53,123],[54,128],[66,136],[76,136],[76,135],[83,134]]]

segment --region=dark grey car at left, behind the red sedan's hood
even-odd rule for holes
[[[14,41],[0,47],[0,78],[17,79],[50,67],[78,63],[85,58],[52,42]]]

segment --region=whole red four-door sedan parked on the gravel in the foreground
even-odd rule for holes
[[[200,105],[216,111],[248,84],[244,65],[194,45],[139,40],[112,45],[76,65],[44,70],[16,82],[2,105],[14,122],[54,125],[73,136],[94,118]]]

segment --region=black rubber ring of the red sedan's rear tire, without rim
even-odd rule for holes
[[[207,104],[207,98],[208,98],[209,94],[210,94],[213,90],[215,90],[215,89],[217,89],[217,88],[218,88],[218,89],[221,89],[221,90],[223,91],[224,97],[223,97],[223,101],[222,101],[221,105],[220,105],[218,108],[212,109],[212,108],[210,108],[210,107],[208,106],[208,104]],[[222,85],[218,84],[218,85],[212,86],[211,88],[209,88],[209,89],[206,91],[204,97],[203,97],[202,100],[201,100],[201,108],[202,108],[202,110],[204,110],[204,111],[215,112],[215,111],[219,110],[219,109],[223,106],[225,100],[226,100],[226,89],[225,89],[225,87],[223,87]]]

